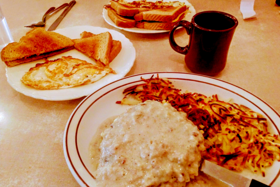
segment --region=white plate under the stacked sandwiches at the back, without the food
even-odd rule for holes
[[[127,2],[133,2],[134,0],[126,0]],[[157,0],[149,0],[151,2],[156,2]],[[186,6],[189,7],[188,13],[185,15],[185,17],[182,20],[186,21],[191,21],[192,17],[195,15],[195,9],[193,5],[191,5],[187,0],[175,0],[175,1],[180,1],[184,2]],[[163,2],[170,2],[170,0],[163,0]],[[104,20],[111,26],[114,26],[118,29],[122,29],[124,31],[129,31],[129,32],[137,32],[137,33],[161,33],[161,32],[169,32],[170,30],[148,30],[148,29],[140,29],[140,28],[123,28],[116,26],[116,24],[111,20],[111,18],[108,16],[108,11],[106,8],[103,8],[103,18]]]

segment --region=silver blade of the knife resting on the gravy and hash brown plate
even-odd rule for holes
[[[248,179],[207,160],[203,161],[200,170],[233,187],[269,187],[257,180]]]

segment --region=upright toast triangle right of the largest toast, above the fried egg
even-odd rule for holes
[[[109,55],[113,42],[109,32],[72,41],[75,43],[74,47],[77,50],[99,61],[104,66],[109,65]]]

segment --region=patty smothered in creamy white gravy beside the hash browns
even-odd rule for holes
[[[101,136],[97,186],[185,186],[205,149],[186,114],[157,101],[128,109]]]

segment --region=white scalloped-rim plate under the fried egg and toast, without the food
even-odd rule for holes
[[[80,34],[83,31],[92,32],[94,34],[99,34],[102,32],[109,31],[114,40],[119,40],[122,43],[122,49],[116,58],[110,63],[110,67],[115,70],[117,74],[107,74],[105,77],[101,78],[95,83],[84,84],[81,86],[75,86],[67,89],[57,89],[57,90],[39,90],[34,89],[30,86],[26,86],[21,82],[22,76],[32,67],[35,67],[38,63],[44,63],[44,60],[35,60],[28,63],[23,63],[16,65],[14,67],[6,67],[6,76],[8,83],[16,91],[23,93],[24,95],[44,100],[51,101],[61,101],[76,99],[83,96],[87,96],[94,91],[100,89],[101,87],[109,84],[115,80],[123,78],[133,66],[135,61],[136,53],[133,44],[118,31],[110,30],[107,28],[94,27],[94,26],[73,26],[63,29],[58,29],[55,32],[67,36],[71,39],[80,38]],[[42,41],[44,42],[44,41]],[[70,50],[65,53],[54,55],[48,57],[48,60],[55,60],[61,58],[62,56],[72,56],[73,58],[86,60],[89,63],[95,64],[95,60],[89,58],[83,53],[77,50]]]

